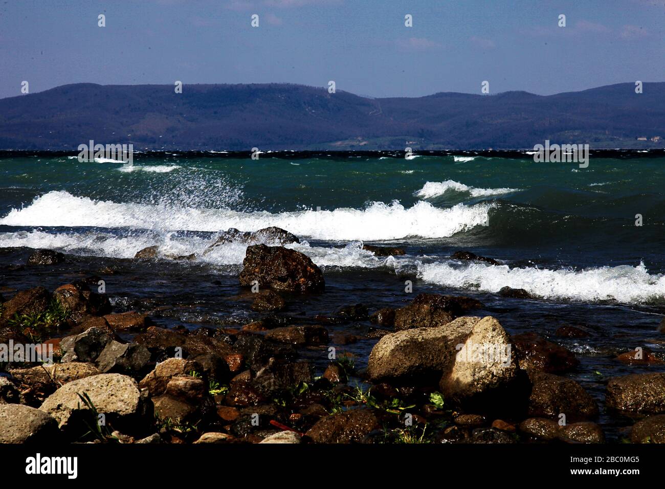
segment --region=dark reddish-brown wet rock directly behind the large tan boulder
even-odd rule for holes
[[[443,326],[465,311],[479,307],[482,304],[470,297],[422,293],[410,305],[395,311],[395,329]]]

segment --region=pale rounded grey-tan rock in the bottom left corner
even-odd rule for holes
[[[0,405],[0,443],[53,444],[59,438],[58,422],[42,410]]]

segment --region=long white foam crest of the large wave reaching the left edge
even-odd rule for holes
[[[399,202],[373,202],[366,209],[338,208],[271,214],[267,211],[118,204],[54,191],[0,219],[8,226],[92,226],[145,230],[211,231],[237,228],[256,231],[278,226],[321,240],[397,240],[407,236],[445,238],[475,226],[489,225],[491,204],[441,209],[428,202],[404,208]]]

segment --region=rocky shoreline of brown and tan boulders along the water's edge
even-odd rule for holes
[[[94,275],[54,291],[0,295],[0,344],[37,344],[55,357],[53,365],[0,357],[0,442],[605,441],[599,403],[566,377],[579,369],[575,354],[536,333],[509,335],[495,317],[477,315],[477,299],[414,293],[404,307],[340,304],[315,317],[286,315],[299,297],[326,293],[321,269],[284,247],[297,240],[279,228],[229,230],[210,246],[248,245],[233,300],[262,317],[237,327],[168,328],[150,313],[114,312]],[[149,248],[136,259],[191,258]],[[468,251],[457,258],[495,263]],[[37,250],[26,266],[64,259]],[[509,287],[499,295],[529,297]],[[336,331],[353,321],[372,327],[363,337]],[[332,347],[333,337],[336,345],[374,343],[366,369]],[[313,357],[325,359],[323,371]],[[617,361],[662,363],[646,349]],[[634,422],[625,441],[665,442],[665,373],[612,377],[604,395],[606,414]]]

